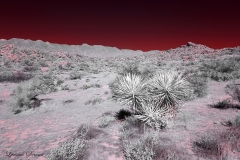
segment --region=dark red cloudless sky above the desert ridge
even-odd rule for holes
[[[0,39],[167,50],[240,46],[239,0],[1,0]]]

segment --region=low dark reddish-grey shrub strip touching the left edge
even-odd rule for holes
[[[0,74],[0,82],[21,82],[24,80],[29,80],[31,78],[31,74],[25,74],[22,71],[3,71]]]

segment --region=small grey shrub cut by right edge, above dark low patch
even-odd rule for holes
[[[234,100],[237,100],[240,103],[240,89],[239,84],[236,84],[235,81],[232,84],[228,84],[225,87],[225,92],[230,95]]]

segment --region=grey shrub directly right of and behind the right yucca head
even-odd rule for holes
[[[202,76],[201,74],[193,74],[187,77],[188,82],[192,84],[193,94],[197,97],[203,97],[207,95],[207,77]]]

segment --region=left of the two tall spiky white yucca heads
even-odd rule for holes
[[[135,111],[146,99],[146,84],[140,75],[127,73],[118,77],[112,85],[113,97],[120,100],[122,104],[130,105]]]

